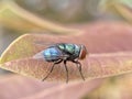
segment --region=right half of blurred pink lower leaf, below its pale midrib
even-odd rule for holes
[[[99,87],[100,84],[102,84],[101,79],[59,85],[50,90],[42,90],[21,99],[80,99],[86,92],[92,91],[95,88]]]

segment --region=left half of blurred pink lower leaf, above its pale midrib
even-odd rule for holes
[[[41,82],[18,75],[1,76],[0,79],[0,88],[2,89],[0,90],[0,99],[19,99],[41,90],[48,90],[50,88],[59,86],[59,84]]]

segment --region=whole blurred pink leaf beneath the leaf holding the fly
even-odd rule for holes
[[[58,84],[42,82],[18,75],[0,77],[1,99],[80,99],[86,92],[99,87],[102,79],[92,81]],[[79,89],[79,94],[77,90]]]

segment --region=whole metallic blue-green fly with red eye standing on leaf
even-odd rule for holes
[[[34,55],[34,58],[43,58],[48,63],[54,63],[50,73],[43,78],[43,81],[50,76],[53,72],[54,66],[61,63],[64,63],[66,69],[66,82],[68,82],[68,69],[67,62],[73,62],[77,65],[81,78],[85,80],[85,77],[81,73],[81,64],[78,59],[84,59],[87,55],[87,50],[84,45],[70,44],[70,43],[56,43],[48,46],[44,51]]]

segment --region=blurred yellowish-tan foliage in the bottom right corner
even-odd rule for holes
[[[132,74],[110,78],[85,99],[132,99]]]

